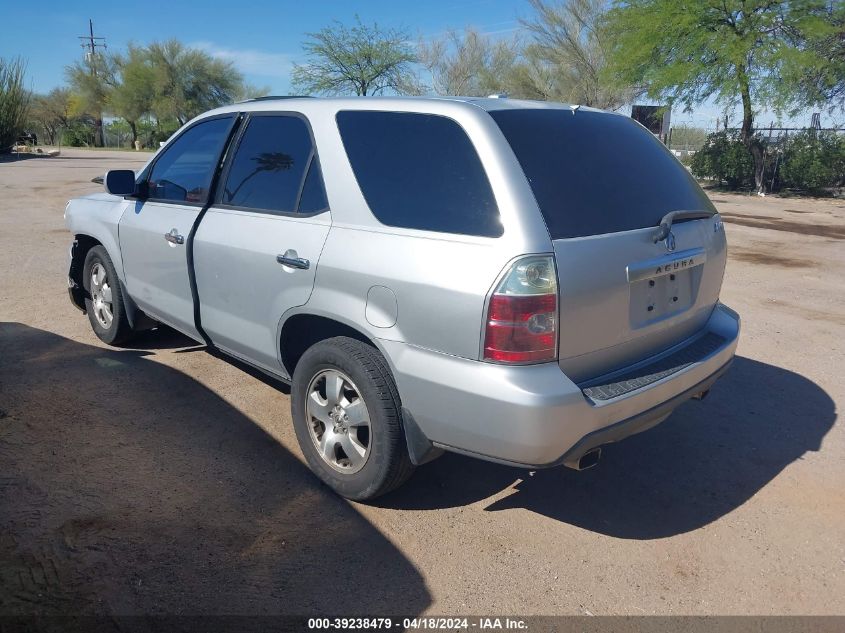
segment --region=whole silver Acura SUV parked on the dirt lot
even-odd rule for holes
[[[263,98],[105,188],[66,210],[97,336],[164,323],[290,383],[309,466],[351,499],[444,450],[587,468],[736,349],[719,215],[621,115]]]

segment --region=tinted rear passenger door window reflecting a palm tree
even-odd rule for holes
[[[221,202],[270,213],[327,208],[305,121],[285,115],[251,117],[235,150]]]

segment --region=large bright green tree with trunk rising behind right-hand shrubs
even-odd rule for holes
[[[740,138],[763,189],[764,147],[754,108],[800,100],[781,72],[812,70],[815,55],[796,55],[829,30],[823,0],[617,0],[607,15],[611,73],[652,99],[691,109],[710,98],[741,103]]]

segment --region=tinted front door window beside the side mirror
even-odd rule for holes
[[[204,203],[231,124],[229,117],[203,121],[173,141],[153,165],[148,197]]]

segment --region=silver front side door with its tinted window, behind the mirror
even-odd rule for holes
[[[188,276],[188,236],[208,200],[233,116],[182,132],[147,171],[147,195],[120,219],[126,287],[142,310],[200,340]]]

